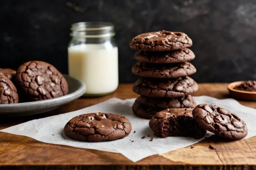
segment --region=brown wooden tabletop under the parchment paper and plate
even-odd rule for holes
[[[118,89],[104,97],[79,98],[57,110],[23,118],[0,118],[0,129],[29,120],[79,110],[111,97],[120,99],[136,98],[132,84],[120,84]],[[227,84],[199,84],[194,96],[207,95],[218,99],[229,98]],[[239,101],[242,105],[256,108],[256,102]],[[209,144],[216,150],[209,149]],[[193,145],[162,155],[153,155],[138,162],[132,162],[119,153],[93,149],[82,149],[64,145],[39,142],[35,139],[0,132],[0,166],[23,166],[29,169],[254,169],[256,165],[256,137],[242,141],[227,141],[211,136]],[[54,166],[54,167],[53,167]],[[172,167],[170,167],[172,166]],[[212,167],[209,167],[212,166]],[[6,167],[2,167],[6,169]],[[17,168],[17,167],[16,167]],[[1,169],[1,167],[0,167]],[[19,169],[19,168],[18,168]]]

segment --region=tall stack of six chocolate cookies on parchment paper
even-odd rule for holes
[[[144,33],[129,43],[139,60],[132,72],[142,76],[133,85],[141,95],[133,104],[133,112],[151,119],[157,112],[168,108],[194,108],[196,102],[190,94],[198,90],[197,83],[188,75],[196,68],[189,62],[195,58],[188,49],[192,40],[184,33],[157,31]]]

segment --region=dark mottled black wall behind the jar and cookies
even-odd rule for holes
[[[129,41],[144,32],[185,32],[197,82],[256,79],[255,0],[0,0],[0,67],[43,60],[67,73],[72,23],[115,24],[120,82],[134,82]]]

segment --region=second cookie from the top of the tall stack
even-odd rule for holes
[[[177,63],[190,61],[195,58],[195,54],[188,48],[184,48],[176,51],[138,51],[135,53],[134,58],[141,62],[149,63]]]

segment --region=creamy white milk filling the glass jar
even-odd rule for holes
[[[111,93],[118,87],[118,49],[106,44],[80,44],[68,48],[69,75],[85,82],[85,96]]]

